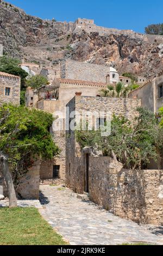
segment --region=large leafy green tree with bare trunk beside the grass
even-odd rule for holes
[[[16,206],[15,187],[36,159],[59,153],[48,127],[52,114],[22,106],[0,108],[0,164],[9,191],[9,206]],[[15,185],[15,187],[14,187]]]

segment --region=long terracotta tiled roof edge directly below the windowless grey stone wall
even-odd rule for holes
[[[67,84],[79,84],[79,85],[84,85],[84,86],[106,87],[106,83],[92,82],[92,81],[71,80],[71,79],[65,79],[65,78],[57,78],[57,81],[59,81],[61,83],[67,83]]]

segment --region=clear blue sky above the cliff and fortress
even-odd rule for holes
[[[96,25],[144,32],[153,23],[163,23],[162,0],[9,0],[27,14],[42,19],[74,21],[94,19]]]

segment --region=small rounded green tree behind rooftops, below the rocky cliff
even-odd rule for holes
[[[38,89],[46,84],[48,84],[47,78],[41,75],[29,77],[26,81],[26,86],[32,87],[33,89]]]

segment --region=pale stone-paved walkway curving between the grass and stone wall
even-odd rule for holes
[[[163,245],[163,227],[137,225],[99,209],[92,202],[83,202],[68,188],[41,186],[41,215],[71,245],[121,245],[147,242]]]

